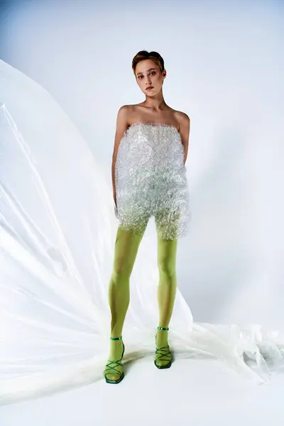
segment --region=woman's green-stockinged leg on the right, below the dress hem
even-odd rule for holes
[[[158,236],[158,307],[160,313],[159,327],[168,327],[173,313],[177,278],[175,272],[175,258],[178,240],[161,239]],[[168,346],[168,331],[158,330],[156,345],[158,348]],[[158,358],[156,354],[155,359]],[[158,366],[168,364],[169,357],[157,361]]]

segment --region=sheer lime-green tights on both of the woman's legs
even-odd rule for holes
[[[120,337],[124,326],[126,312],[129,307],[129,280],[133,270],[138,247],[143,236],[125,231],[119,227],[116,234],[114,249],[114,265],[109,283],[109,307],[111,309],[111,336]],[[158,236],[158,308],[159,327],[168,327],[175,302],[177,278],[175,273],[175,258],[178,240],[161,239]],[[122,341],[110,340],[109,361],[121,359]],[[168,331],[157,330],[157,347],[168,346]],[[158,356],[158,355],[157,355]],[[156,357],[157,357],[156,356]],[[168,361],[157,361],[158,365],[168,364]],[[121,366],[116,366],[122,371]],[[108,370],[107,377],[118,380],[115,370]]]

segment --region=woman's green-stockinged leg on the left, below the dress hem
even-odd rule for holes
[[[114,249],[114,265],[109,283],[109,306],[111,309],[111,337],[120,337],[129,307],[129,280],[141,243],[142,235],[124,229],[117,230]],[[122,341],[111,340],[109,360],[118,360],[122,354]],[[116,369],[122,371],[120,366]],[[107,378],[118,380],[115,370],[107,371]]]

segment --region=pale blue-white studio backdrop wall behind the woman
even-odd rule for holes
[[[191,118],[178,285],[195,321],[283,322],[283,1],[1,1],[0,58],[60,103],[111,183],[116,113],[157,50]],[[1,94],[0,94],[1,96]],[[153,232],[153,222],[146,232]]]

